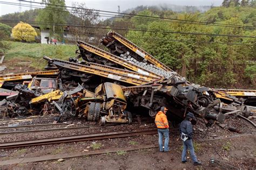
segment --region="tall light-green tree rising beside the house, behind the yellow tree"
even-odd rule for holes
[[[61,39],[62,32],[64,31],[66,24],[66,18],[69,16],[69,12],[66,11],[64,0],[42,0],[42,3],[46,3],[45,8],[40,10],[36,20],[42,22],[41,29],[49,29],[50,36],[54,33]],[[48,5],[51,4],[51,5]],[[60,6],[54,6],[60,5]],[[54,8],[54,9],[52,9]]]

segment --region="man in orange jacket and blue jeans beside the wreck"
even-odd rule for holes
[[[157,125],[158,131],[158,143],[160,152],[169,152],[169,124],[166,117],[166,112],[168,109],[165,107],[161,107],[160,111],[156,115],[156,119],[154,119],[154,123]],[[163,150],[163,136],[164,140],[164,150]]]

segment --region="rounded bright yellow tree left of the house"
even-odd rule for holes
[[[12,29],[12,37],[23,42],[34,41],[37,36],[36,30],[29,24],[19,22]]]

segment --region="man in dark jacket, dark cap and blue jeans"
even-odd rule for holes
[[[192,158],[192,161],[194,162],[194,165],[201,165],[201,162],[197,160],[197,156],[194,153],[194,147],[193,147],[193,127],[191,124],[191,120],[194,118],[194,115],[191,112],[188,112],[186,115],[186,118],[184,121],[180,123],[180,133],[184,133],[187,135],[187,139],[183,141],[183,151],[181,155],[181,161],[183,163],[186,163],[186,154],[187,154],[187,148],[190,150],[190,155]]]

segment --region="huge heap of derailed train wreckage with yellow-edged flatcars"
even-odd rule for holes
[[[154,117],[165,106],[173,123],[191,111],[212,125],[223,123],[225,114],[253,114],[234,96],[187,82],[116,32],[107,33],[101,42],[110,53],[79,40],[76,58],[63,61],[44,56],[46,68],[58,71],[2,76],[2,88],[17,91],[1,102],[2,117],[59,112],[104,125],[131,123],[131,113]]]

